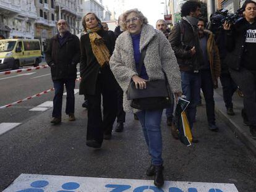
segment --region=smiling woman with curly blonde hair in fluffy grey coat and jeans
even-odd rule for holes
[[[169,88],[176,98],[181,95],[181,75],[173,49],[166,36],[148,25],[147,18],[137,9],[127,10],[123,17],[123,27],[126,31],[116,40],[116,46],[109,64],[117,82],[124,91],[124,110],[137,112],[143,128],[148,150],[151,156],[151,165],[147,175],[155,175],[154,184],[162,186],[163,159],[161,116],[163,109],[137,111],[130,107],[127,100],[127,89],[130,81],[134,81],[136,88],[146,88],[147,81],[164,80],[164,73],[168,80]],[[147,46],[144,65],[140,73],[137,68],[140,52]]]

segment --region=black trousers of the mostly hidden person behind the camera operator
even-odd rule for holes
[[[233,109],[232,97],[234,92],[237,90],[237,85],[231,78],[229,73],[223,73],[220,76],[222,90],[223,90],[223,99],[225,102],[226,108]]]

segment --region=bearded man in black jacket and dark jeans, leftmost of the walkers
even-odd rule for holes
[[[66,20],[58,21],[59,33],[51,38],[45,52],[46,62],[51,67],[51,78],[54,85],[53,119],[51,123],[61,123],[62,96],[64,84],[67,90],[66,114],[74,121],[75,111],[75,79],[77,78],[77,63],[80,60],[79,38],[69,32]]]

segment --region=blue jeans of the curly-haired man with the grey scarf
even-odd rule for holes
[[[186,100],[190,101],[187,107],[187,119],[190,128],[193,128],[195,114],[197,112],[197,104],[200,101],[200,74],[194,72],[181,72],[182,92],[186,96]]]

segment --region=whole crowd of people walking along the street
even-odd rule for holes
[[[120,15],[116,30],[109,31],[107,23],[88,12],[82,19],[84,34],[80,40],[69,33],[66,20],[59,20],[59,33],[51,39],[46,51],[55,89],[51,123],[61,123],[64,85],[67,90],[66,114],[70,121],[75,120],[74,86],[76,66],[80,62],[79,93],[85,96],[83,107],[88,109],[87,146],[101,148],[103,140],[111,140],[114,121],[117,119],[115,131],[122,132],[126,112],[132,112],[140,121],[151,156],[146,174],[155,177],[154,184],[158,187],[164,183],[162,113],[166,109],[166,123],[177,139],[174,102],[182,94],[190,101],[186,114],[192,132],[201,99],[200,89],[205,98],[208,128],[218,131],[213,99],[218,78],[223,86],[228,115],[234,115],[232,96],[239,86],[244,94],[242,117],[250,127],[252,138],[256,139],[253,54],[256,48],[256,2],[246,0],[242,6],[244,17],[236,23],[224,22],[217,31],[207,30],[205,19],[200,18],[200,8],[198,1],[186,1],[181,7],[181,21],[171,30],[161,19],[156,22],[155,29],[142,12],[131,9]],[[129,99],[131,83],[135,89],[145,91],[152,81],[161,80],[165,82],[171,104],[164,109],[159,106],[134,107],[135,101],[143,104],[142,101],[152,99]],[[198,142],[194,135],[192,142]]]

